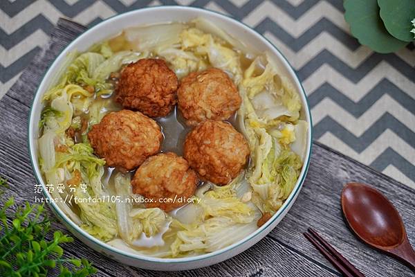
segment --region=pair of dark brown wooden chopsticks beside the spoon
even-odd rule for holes
[[[329,242],[326,242],[320,235],[311,228],[304,237],[309,240],[323,256],[337,268],[343,276],[346,277],[365,277],[356,267],[354,267],[346,258],[336,251]]]

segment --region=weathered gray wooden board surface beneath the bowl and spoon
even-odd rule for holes
[[[34,200],[36,181],[27,149],[30,105],[48,65],[83,30],[83,26],[60,20],[48,48],[37,55],[0,101],[0,175],[8,178],[11,185],[3,199],[13,196],[18,203]],[[400,211],[409,240],[415,244],[415,191],[314,143],[304,187],[291,211],[266,238],[230,260],[193,271],[159,272],[122,265],[79,240],[68,244],[65,251],[93,261],[99,269],[98,276],[340,276],[302,235],[308,226],[313,226],[366,276],[413,276],[400,262],[357,240],[347,228],[340,210],[340,192],[350,181],[372,184],[385,193]],[[59,222],[54,227],[64,230]]]

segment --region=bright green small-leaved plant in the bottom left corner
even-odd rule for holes
[[[0,178],[0,186],[7,186],[7,180]],[[86,259],[64,258],[62,244],[73,238],[50,229],[43,205],[26,202],[12,212],[14,204],[10,198],[0,210],[0,276],[42,277],[54,268],[60,277],[85,277],[96,272]]]

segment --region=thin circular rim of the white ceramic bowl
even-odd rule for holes
[[[297,183],[295,184],[295,188],[293,189],[291,194],[288,196],[288,199],[286,199],[286,201],[284,202],[282,207],[279,208],[279,210],[273,215],[273,217],[271,217],[271,220],[268,220],[268,222],[266,222],[264,225],[259,227],[254,232],[250,233],[250,235],[247,235],[245,238],[243,238],[241,240],[238,240],[237,242],[234,242],[233,244],[230,244],[228,247],[224,247],[222,249],[219,249],[219,250],[216,250],[216,251],[213,251],[213,252],[210,252],[210,253],[205,253],[205,254],[202,254],[202,255],[192,256],[192,257],[183,257],[183,258],[156,258],[156,257],[153,257],[153,256],[145,256],[145,255],[140,255],[140,254],[137,254],[137,253],[130,253],[128,251],[124,251],[122,249],[118,249],[116,247],[113,247],[110,244],[107,244],[107,242],[103,242],[101,240],[98,240],[98,238],[93,237],[93,235],[90,235],[89,233],[84,231],[84,229],[82,229],[80,226],[75,224],[75,222],[73,222],[68,217],[68,215],[66,215],[59,208],[59,206],[57,206],[57,204],[55,202],[53,202],[53,201],[48,202],[49,206],[51,208],[53,208],[53,211],[55,212],[55,215],[60,217],[60,219],[64,221],[66,226],[71,226],[71,228],[75,229],[75,231],[77,231],[77,233],[82,235],[83,238],[86,238],[90,242],[93,242],[93,244],[95,244],[97,247],[103,248],[107,251],[111,251],[112,253],[116,253],[116,254],[124,256],[126,258],[131,258],[131,259],[134,259],[134,260],[140,260],[140,261],[143,261],[143,262],[156,262],[156,263],[160,263],[160,264],[165,264],[165,263],[180,264],[180,263],[185,263],[185,262],[199,262],[199,261],[202,261],[202,260],[207,260],[207,259],[213,258],[215,256],[222,255],[223,253],[226,253],[228,251],[231,251],[232,249],[240,247],[241,245],[245,244],[249,240],[252,240],[253,238],[257,237],[257,235],[261,234],[265,229],[268,228],[268,226],[271,226],[282,215],[282,213],[284,213],[284,211],[287,208],[288,209],[291,208],[291,205],[292,205],[291,202],[293,202],[293,200],[297,197],[297,195],[299,194],[300,189],[302,188],[302,186],[304,184],[304,180],[305,180],[307,172],[308,172],[308,167],[310,165],[311,150],[313,148],[313,139],[312,139],[313,138],[313,120],[312,120],[312,117],[311,117],[310,105],[308,103],[308,98],[307,98],[306,92],[304,90],[304,87],[302,86],[302,82],[299,80],[297,73],[293,69],[293,66],[291,66],[291,64],[288,62],[286,57],[281,53],[281,51],[279,51],[277,46],[275,46],[272,42],[270,42],[270,40],[267,39],[264,35],[261,35],[254,28],[252,28],[252,27],[248,26],[247,24],[243,23],[243,21],[239,21],[238,19],[235,19],[231,15],[225,15],[225,14],[222,14],[221,12],[216,12],[214,10],[208,10],[208,9],[205,9],[205,8],[198,8],[198,7],[191,7],[191,6],[154,6],[154,7],[138,8],[138,9],[130,10],[130,11],[127,11],[127,12],[122,12],[118,15],[113,15],[112,17],[104,19],[100,23],[98,23],[98,24],[92,26],[91,28],[88,28],[84,32],[80,33],[80,35],[77,35],[77,37],[75,37],[75,39],[73,39],[73,41],[71,41],[68,45],[66,45],[62,49],[62,51],[60,51],[59,55],[57,55],[53,59],[53,62],[50,64],[48,69],[43,73],[41,81],[39,82],[39,84],[37,86],[37,89],[35,91],[35,94],[33,96],[32,104],[30,105],[29,118],[28,118],[28,141],[27,141],[27,143],[28,143],[28,152],[29,152],[29,157],[30,157],[30,164],[32,166],[33,172],[35,173],[35,179],[38,182],[38,184],[42,185],[42,193],[44,194],[44,196],[47,199],[50,200],[52,197],[51,197],[50,193],[48,193],[48,191],[47,191],[47,188],[44,184],[44,180],[41,176],[42,174],[41,174],[41,172],[38,172],[37,168],[35,168],[35,161],[33,159],[33,156],[34,156],[33,152],[35,151],[35,141],[36,141],[36,139],[32,139],[33,129],[31,128],[31,126],[33,125],[33,114],[34,114],[33,107],[35,105],[35,100],[37,100],[39,94],[42,93],[42,91],[39,91],[39,89],[42,86],[42,84],[44,83],[47,73],[50,71],[51,68],[53,68],[53,66],[55,66],[58,58],[61,57],[62,54],[64,54],[64,52],[66,52],[67,48],[69,48],[73,44],[76,44],[77,41],[80,40],[80,38],[82,38],[84,36],[87,36],[87,34],[89,32],[91,32],[91,30],[95,29],[96,27],[100,26],[101,24],[107,23],[108,21],[114,20],[118,17],[124,17],[126,15],[132,14],[134,12],[142,11],[142,10],[163,10],[163,9],[193,10],[193,11],[196,11],[196,12],[203,12],[203,13],[207,13],[207,14],[210,13],[210,14],[218,16],[218,17],[224,17],[225,19],[228,19],[228,20],[232,21],[233,24],[240,25],[242,28],[245,28],[246,30],[250,31],[251,33],[253,33],[253,35],[256,35],[259,39],[263,39],[264,42],[267,44],[268,48],[272,49],[280,57],[282,57],[282,62],[284,63],[284,67],[286,68],[288,73],[291,73],[291,75],[295,76],[295,82],[297,82],[297,84],[299,84],[298,87],[301,88],[300,93],[302,93],[302,96],[304,96],[304,97],[302,97],[302,98],[304,98],[304,101],[302,101],[302,102],[305,102],[305,104],[306,104],[304,106],[304,109],[306,111],[306,117],[308,117],[307,118],[308,119],[307,120],[307,123],[308,123],[308,139],[307,139],[306,143],[309,145],[309,147],[306,149],[306,156],[305,156],[306,161],[303,164],[302,172],[300,172],[300,176],[299,176],[299,179],[297,179]],[[284,218],[284,216],[283,216],[283,218]],[[71,231],[71,230],[69,230],[69,231]],[[88,247],[90,247],[90,246],[88,246]]]

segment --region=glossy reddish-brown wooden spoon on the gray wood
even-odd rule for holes
[[[371,247],[398,258],[415,271],[415,251],[396,208],[378,190],[349,183],[342,191],[344,217],[353,232]]]

